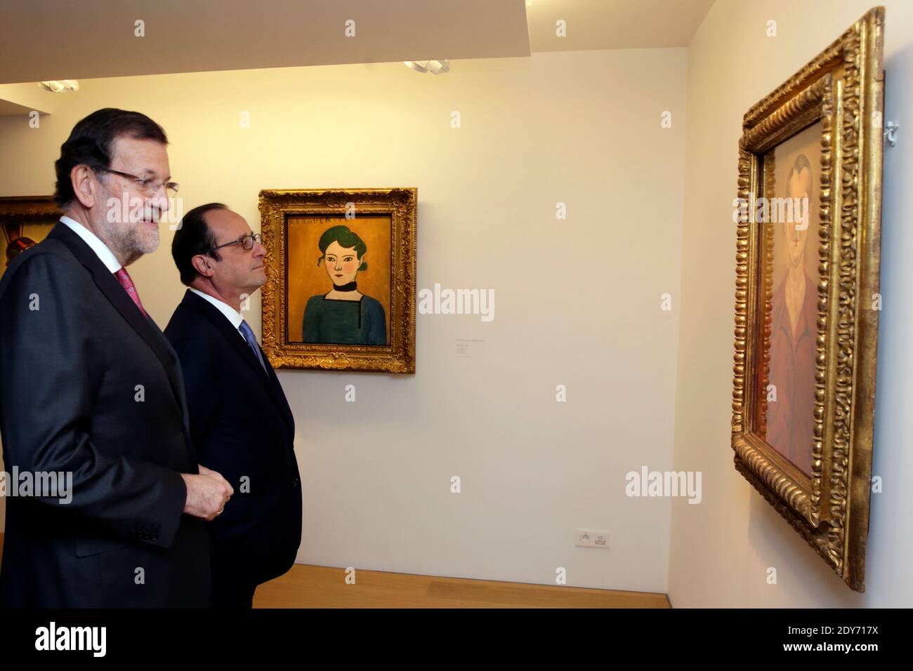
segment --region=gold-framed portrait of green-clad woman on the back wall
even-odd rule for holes
[[[274,367],[415,372],[417,201],[411,187],[260,192]]]

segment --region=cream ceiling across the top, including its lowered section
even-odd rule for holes
[[[0,84],[686,47],[713,0],[0,0]],[[145,37],[134,35],[144,21]],[[345,22],[355,21],[355,37]],[[555,36],[563,19],[567,37]],[[529,24],[529,26],[528,26]]]

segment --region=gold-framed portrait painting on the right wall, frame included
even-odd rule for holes
[[[884,8],[742,121],[735,467],[865,591],[881,297]]]

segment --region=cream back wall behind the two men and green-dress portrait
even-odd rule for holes
[[[624,477],[672,466],[687,82],[684,48],[456,61],[439,77],[394,63],[84,80],[38,129],[0,118],[0,195],[50,194],[61,142],[101,107],[163,125],[184,211],[224,202],[255,230],[263,188],[418,187],[418,288],[494,289],[494,320],[418,315],[414,376],[279,372],[297,423],[299,561],[544,584],[564,568],[570,585],[666,592],[670,501],[626,497]],[[723,97],[714,104],[738,109],[720,131],[743,107]],[[709,140],[728,189],[734,139]],[[708,186],[700,178],[691,188]],[[713,224],[690,207],[704,235]],[[172,236],[131,267],[161,327],[184,292]],[[733,255],[729,232],[719,237],[719,259],[687,241],[698,296],[682,371],[703,392],[715,387],[699,372],[729,356]],[[719,287],[698,282],[718,267]],[[719,324],[699,328],[693,306],[718,292]],[[257,295],[255,332],[259,310]],[[697,348],[696,329],[725,346]],[[725,428],[725,398],[710,400],[690,402],[705,432]],[[725,431],[714,439],[725,469]],[[575,548],[576,528],[608,529],[611,548]]]

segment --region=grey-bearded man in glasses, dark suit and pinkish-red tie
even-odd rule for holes
[[[177,190],[167,143],[139,112],[79,121],[56,163],[65,215],[0,282],[5,469],[58,489],[7,499],[2,606],[209,603],[205,520],[233,492],[198,467],[180,364],[127,272]]]

